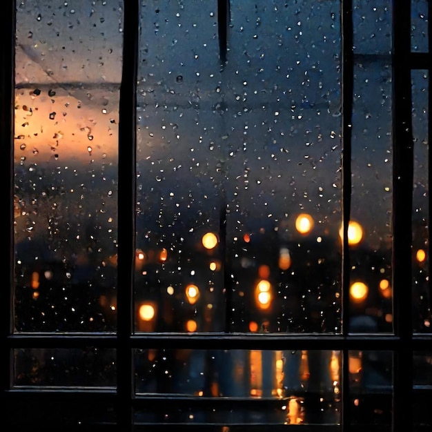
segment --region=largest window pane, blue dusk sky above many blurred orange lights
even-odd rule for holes
[[[339,332],[340,2],[232,2],[223,67],[217,19],[141,8],[135,328]]]

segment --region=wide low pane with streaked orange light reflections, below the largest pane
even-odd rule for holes
[[[273,401],[259,408],[259,421],[279,424],[337,423],[340,420],[339,351],[257,350],[165,350],[135,351],[135,390],[138,395],[175,394],[204,398],[235,397],[249,400],[244,408],[233,409],[230,418],[249,418],[257,400]],[[188,399],[186,413],[194,412]],[[193,401],[193,400],[192,400]],[[310,403],[309,403],[310,402]],[[181,402],[179,402],[181,404]],[[176,402],[177,406],[177,402]],[[208,403],[208,407],[212,402]],[[234,405],[235,406],[235,405]],[[222,410],[222,411],[221,411]],[[255,409],[256,410],[256,409]],[[177,413],[175,412],[177,411]],[[142,422],[151,416],[166,422],[208,422],[213,411],[195,409],[193,417],[170,406],[139,414]],[[226,411],[213,411],[219,422]],[[213,418],[214,419],[214,418]]]

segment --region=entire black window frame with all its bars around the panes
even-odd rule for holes
[[[119,248],[118,248],[118,275],[121,286],[129,289],[119,289],[117,292],[118,327],[117,334],[14,334],[13,320],[13,294],[14,284],[14,239],[13,239],[13,121],[14,121],[14,30],[16,2],[6,1],[2,4],[3,43],[1,44],[1,142],[6,147],[8,157],[3,157],[1,187],[3,196],[9,196],[9,224],[3,224],[3,234],[8,239],[4,249],[8,263],[8,278],[4,288],[1,313],[2,335],[2,395],[6,401],[6,419],[13,424],[14,406],[30,403],[34,398],[41,398],[47,403],[58,398],[69,403],[77,400],[86,400],[98,404],[110,403],[117,411],[117,424],[113,430],[132,431],[133,410],[138,406],[150,403],[166,403],[166,398],[141,399],[134,397],[132,350],[134,348],[213,348],[213,349],[332,349],[342,352],[342,425],[340,431],[354,431],[351,425],[350,392],[348,380],[348,351],[350,350],[389,350],[394,354],[393,363],[393,407],[392,430],[406,431],[413,424],[413,407],[406,406],[406,401],[413,400],[413,353],[415,351],[431,351],[432,333],[413,334],[413,315],[406,304],[411,304],[411,220],[412,220],[412,193],[413,193],[413,132],[411,125],[411,72],[412,70],[429,70],[431,72],[431,54],[411,52],[411,0],[393,1],[393,317],[395,323],[394,334],[349,334],[347,331],[349,321],[349,277],[350,260],[348,236],[346,235],[347,222],[351,202],[351,119],[353,97],[353,65],[355,58],[351,47],[353,46],[352,0],[341,0],[342,5],[342,123],[343,159],[343,220],[344,243],[342,264],[342,322],[344,323],[340,335],[298,335],[298,334],[266,334],[246,335],[236,333],[215,334],[134,334],[132,311],[133,287],[133,260],[135,257],[135,146],[136,142],[136,82],[137,58],[139,39],[139,0],[124,1],[124,63],[121,80],[121,96],[119,106]],[[431,17],[431,1],[429,1],[429,19]],[[229,10],[229,0],[219,0],[219,13],[221,16]],[[224,13],[221,13],[224,12]],[[226,55],[226,21],[219,21],[221,40],[221,58]],[[429,31],[429,47],[432,46],[431,32]],[[429,97],[429,124],[431,116],[431,98]],[[348,113],[348,114],[346,114]],[[431,128],[429,127],[429,137]],[[347,161],[347,163],[344,163]],[[431,157],[429,152],[429,166]],[[429,196],[429,208],[430,208]],[[7,231],[6,231],[7,230]],[[406,289],[409,287],[410,289]],[[429,287],[430,290],[430,287]],[[26,347],[57,347],[73,348],[83,346],[111,347],[117,349],[117,390],[82,392],[77,389],[68,391],[19,391],[12,389],[13,377],[13,348]],[[429,389],[429,391],[431,391]],[[174,398],[173,398],[174,400]],[[203,402],[208,403],[208,402]],[[9,415],[9,413],[12,413]],[[52,424],[51,424],[52,423]],[[52,429],[68,429],[67,424],[53,415],[52,422],[46,426]],[[431,426],[431,425],[429,425]],[[291,426],[290,426],[291,427]],[[295,427],[295,426],[293,426]],[[320,430],[333,430],[331,427],[315,426]],[[84,430],[85,425],[81,429]],[[162,426],[154,426],[155,430],[164,430]],[[175,430],[181,430],[173,426]],[[408,428],[408,429],[407,429]],[[95,429],[93,425],[92,430]],[[101,430],[111,430],[108,424],[102,425]],[[190,429],[190,426],[185,426]],[[247,430],[255,430],[252,427]],[[282,429],[282,428],[281,428]],[[302,426],[303,430],[308,430]],[[314,429],[314,426],[310,426]],[[379,429],[379,428],[377,428]],[[18,430],[18,429],[14,429]],[[72,429],[71,429],[72,430]],[[153,429],[148,429],[153,430]],[[218,429],[215,429],[218,430]],[[234,429],[233,429],[234,430]],[[240,429],[239,429],[240,430]],[[261,430],[261,429],[256,429]],[[373,425],[371,425],[373,430]],[[420,429],[419,429],[420,430]],[[426,430],[426,429],[424,429]],[[430,429],[429,429],[430,430]]]

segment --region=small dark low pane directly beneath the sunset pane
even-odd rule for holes
[[[116,384],[115,350],[14,349],[14,386],[100,387]]]

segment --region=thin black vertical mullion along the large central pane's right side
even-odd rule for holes
[[[353,111],[353,2],[342,1],[342,334],[349,330],[350,257],[348,223],[351,210],[351,117]],[[351,395],[349,389],[348,349],[342,350],[342,430],[351,424]]]

